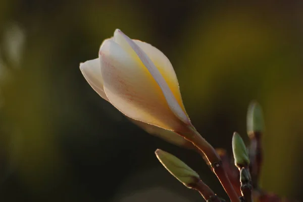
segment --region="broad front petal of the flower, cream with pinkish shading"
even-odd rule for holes
[[[142,62],[112,40],[100,47],[99,57],[105,93],[117,109],[132,119],[166,129],[184,127]]]

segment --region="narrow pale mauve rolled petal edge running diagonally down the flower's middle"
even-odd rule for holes
[[[182,120],[184,123],[190,124],[189,118],[180,107],[172,91],[170,90],[168,84],[164,80],[159,70],[156,68],[155,64],[150,60],[150,58],[146,55],[146,53],[143,52],[142,49],[135,42],[133,42],[133,40],[131,40],[128,36],[126,36],[121,30],[116,30],[116,32],[120,33],[125,38],[128,44],[136,52],[142,63],[145,65],[148,72],[153,76],[155,81],[158,83],[173,113],[178,118],[180,118],[180,120]]]

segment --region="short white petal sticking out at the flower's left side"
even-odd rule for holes
[[[101,74],[99,58],[81,63],[80,70],[92,89],[97,92],[103,99],[109,101],[103,89],[103,78]]]

